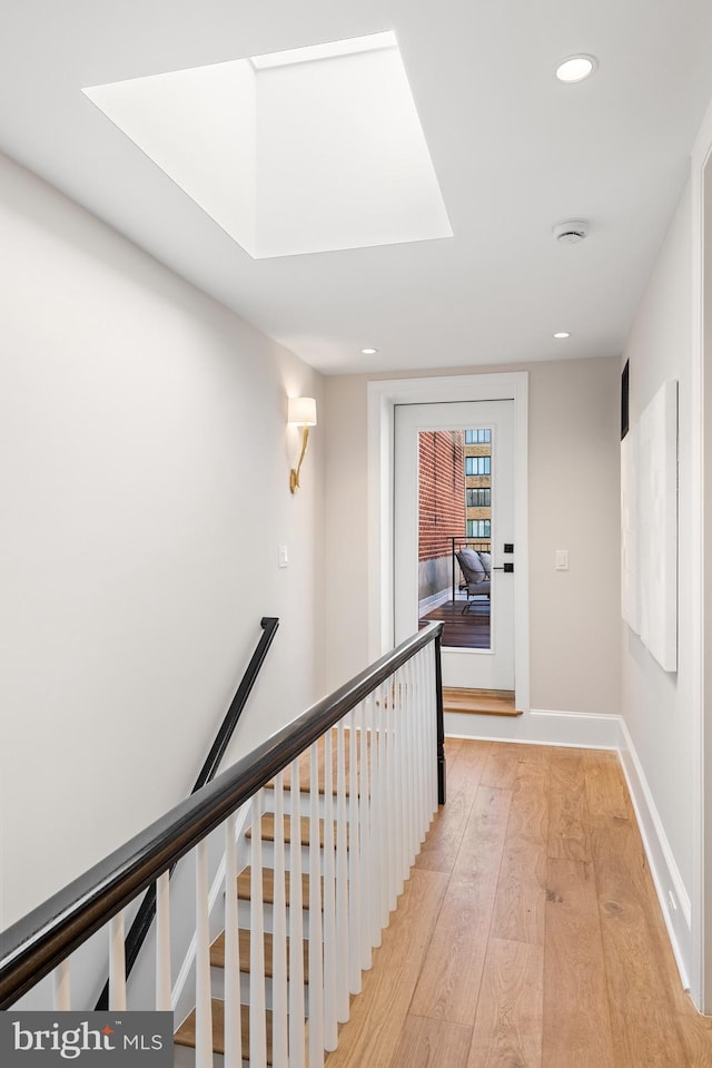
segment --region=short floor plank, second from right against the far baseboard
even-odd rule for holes
[[[582,749],[552,751],[548,855],[553,859],[591,860],[583,760]]]

